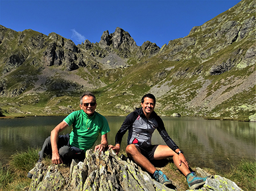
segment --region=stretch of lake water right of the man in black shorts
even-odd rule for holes
[[[162,117],[166,129],[192,165],[228,169],[255,160],[255,123]],[[156,141],[164,143],[160,136]]]

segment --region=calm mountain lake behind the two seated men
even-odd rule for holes
[[[25,117],[0,120],[0,162],[5,164],[17,151],[28,147],[41,147],[53,128],[65,117]],[[109,144],[114,145],[115,134],[125,117],[106,117],[110,133]],[[184,151],[190,165],[228,170],[242,159],[255,162],[255,122],[204,120],[192,117],[162,117],[166,130],[175,143]],[[63,133],[69,133],[67,128]],[[62,133],[62,132],[61,132]],[[127,134],[121,149],[127,145]],[[96,144],[100,143],[100,137]],[[153,144],[165,145],[156,130]]]

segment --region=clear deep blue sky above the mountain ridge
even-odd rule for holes
[[[159,47],[185,37],[240,1],[3,1],[0,24],[14,31],[55,32],[75,44],[99,42],[104,31],[120,27],[138,46],[145,41]]]

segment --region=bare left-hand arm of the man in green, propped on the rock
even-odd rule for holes
[[[57,142],[59,140],[59,133],[60,131],[63,131],[65,128],[67,128],[68,125],[62,121],[59,125],[57,125],[52,131],[51,131],[51,145],[52,145],[52,163],[53,164],[61,164],[63,163],[61,160],[61,157],[59,155],[59,150],[57,146]]]

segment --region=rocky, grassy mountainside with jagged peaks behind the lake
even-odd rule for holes
[[[93,91],[97,111],[127,114],[151,92],[156,111],[249,120],[255,114],[255,1],[241,1],[188,36],[137,46],[117,27],[99,43],[0,26],[2,113],[67,114]]]

